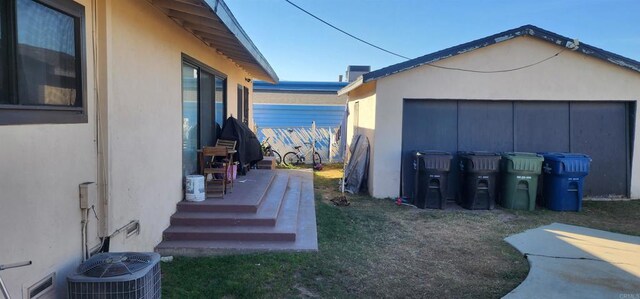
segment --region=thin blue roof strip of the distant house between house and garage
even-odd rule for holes
[[[347,82],[280,81],[278,84],[271,84],[264,81],[254,81],[253,91],[336,94],[345,86],[347,86]]]

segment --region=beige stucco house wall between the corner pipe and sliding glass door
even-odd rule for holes
[[[250,77],[147,1],[112,5],[109,55],[109,231],[140,221],[111,250],[152,251],[182,200],[182,53],[227,75],[227,115]],[[253,98],[250,95],[250,99]]]

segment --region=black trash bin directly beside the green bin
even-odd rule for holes
[[[460,152],[460,196],[458,203],[469,210],[492,210],[497,198],[500,154]]]

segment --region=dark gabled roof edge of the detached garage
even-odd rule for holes
[[[468,43],[464,43],[451,48],[433,52],[431,54],[427,54],[418,58],[407,60],[398,64],[390,65],[388,67],[384,67],[379,70],[366,73],[362,75],[361,78],[358,78],[358,80],[352,82],[347,87],[340,90],[339,94],[345,94],[357,88],[363,83],[367,83],[380,78],[391,76],[393,74],[397,74],[397,73],[404,72],[404,71],[407,71],[416,67],[420,67],[423,65],[427,65],[439,60],[447,59],[452,56],[456,56],[459,54],[464,54],[470,51],[484,48],[493,44],[501,43],[507,40],[514,39],[516,37],[520,37],[520,36],[531,36],[531,37],[534,37],[534,38],[537,38],[561,47],[566,47],[568,49],[575,50],[576,52],[580,52],[588,56],[592,56],[604,61],[608,61],[610,63],[616,64],[624,68],[628,68],[636,72],[640,72],[640,62],[636,60],[626,58],[618,54],[611,53],[609,51],[605,51],[603,49],[585,44],[581,41],[579,42],[577,49],[575,49],[576,41],[573,38],[568,38],[533,25],[524,25],[522,27],[500,32],[491,36],[487,36],[485,38],[477,39]]]

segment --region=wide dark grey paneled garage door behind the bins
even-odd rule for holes
[[[585,180],[587,196],[627,196],[629,128],[626,102],[404,101],[402,184],[412,197],[411,152],[562,151],[593,158]],[[458,161],[454,160],[453,165]],[[456,196],[458,173],[450,174],[449,199]]]

